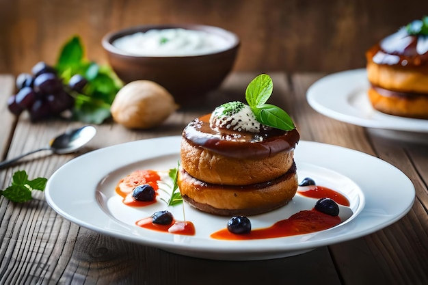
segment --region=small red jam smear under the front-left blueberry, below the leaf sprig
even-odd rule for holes
[[[157,230],[158,232],[169,232],[170,234],[193,236],[196,232],[195,226],[191,221],[176,221],[173,219],[168,225],[159,225],[158,223],[152,223],[152,221],[152,217],[146,217],[138,220],[135,224],[141,228]]]

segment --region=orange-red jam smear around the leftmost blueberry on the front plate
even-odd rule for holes
[[[148,206],[154,204],[156,200],[148,202],[135,201],[132,197],[132,191],[135,187],[144,184],[150,185],[157,191],[159,189],[157,181],[159,180],[161,180],[161,177],[155,170],[135,170],[120,179],[116,186],[116,193],[124,198],[122,202],[128,206]]]

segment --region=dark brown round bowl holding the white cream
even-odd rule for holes
[[[148,57],[132,55],[111,44],[114,40],[149,29],[183,28],[222,36],[230,45],[217,53],[192,56]],[[109,64],[125,83],[135,80],[155,81],[168,90],[180,107],[202,103],[204,94],[219,87],[232,70],[239,50],[235,33],[206,25],[142,25],[108,33],[103,38]]]

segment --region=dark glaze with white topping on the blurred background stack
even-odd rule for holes
[[[372,46],[366,57],[375,64],[427,68],[428,36],[410,36],[401,28]]]

